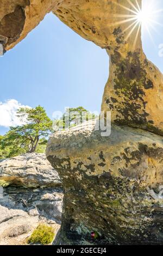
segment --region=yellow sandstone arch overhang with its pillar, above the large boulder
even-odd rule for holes
[[[137,1],[141,6],[141,0]],[[136,0],[2,0],[0,41],[10,50],[52,11],[86,40],[110,56],[102,111],[117,125],[139,127],[163,135],[163,76],[143,53],[139,25],[120,22],[132,14]],[[129,35],[129,36],[128,36]],[[102,85],[103,86],[103,85]]]

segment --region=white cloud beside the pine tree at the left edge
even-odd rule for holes
[[[0,102],[0,126],[21,125],[22,121],[16,116],[17,109],[20,107],[29,108],[29,106],[21,105],[21,103],[14,99]]]

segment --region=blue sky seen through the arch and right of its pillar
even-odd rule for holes
[[[162,0],[154,2],[156,9],[163,9]],[[150,29],[153,41],[147,29],[143,33],[143,49],[163,72],[163,57],[159,57],[163,27],[155,24],[155,28],[159,33]],[[0,68],[1,109],[14,115],[18,102],[30,107],[40,104],[52,118],[54,111],[64,111],[66,106],[99,111],[109,74],[109,57],[105,50],[48,14],[26,39],[0,58]],[[1,109],[0,134],[4,134],[8,120],[3,120]]]

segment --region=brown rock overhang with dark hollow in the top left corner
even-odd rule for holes
[[[1,0],[0,35],[5,50],[20,42],[51,11],[55,0]]]

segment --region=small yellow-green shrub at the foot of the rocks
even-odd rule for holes
[[[54,239],[54,229],[45,224],[39,224],[28,239],[28,243],[47,245]]]

